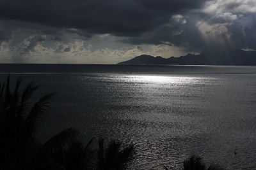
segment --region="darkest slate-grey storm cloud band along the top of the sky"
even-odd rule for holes
[[[0,18],[90,34],[138,36],[166,24],[173,13],[199,8],[203,0],[1,0]]]

